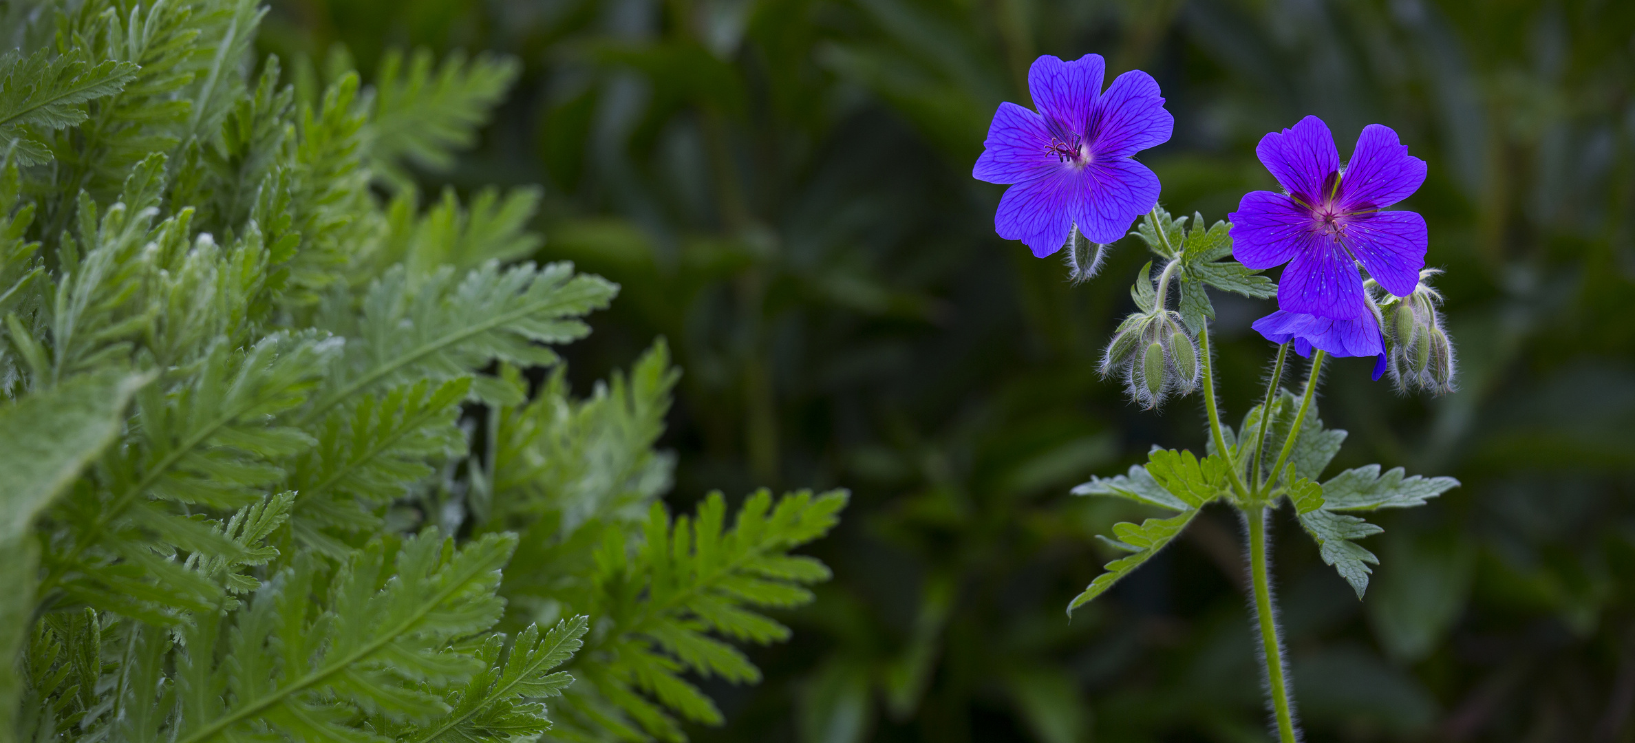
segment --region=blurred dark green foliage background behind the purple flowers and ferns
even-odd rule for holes
[[[1336,470],[1463,487],[1382,514],[1365,603],[1279,514],[1310,740],[1628,741],[1632,33],[1614,0],[281,0],[260,44],[316,82],[347,59],[368,82],[396,47],[513,54],[477,149],[404,176],[543,188],[538,256],[625,287],[569,351],[580,389],[670,340],[674,506],[853,488],[818,547],[834,583],[757,652],[765,683],[710,686],[708,740],[1265,740],[1226,509],[1063,616],[1109,557],[1089,536],[1143,516],[1066,490],[1198,449],[1200,413],[1094,374],[1144,250],[1071,287],[994,237],[1001,189],[970,167],[1038,54],[1151,72],[1176,136],[1141,158],[1167,209],[1212,222],[1274,186],[1264,132],[1315,113],[1346,153],[1391,126],[1431,163],[1404,207],[1447,269],[1460,392],[1396,397],[1349,359],[1323,418],[1352,433]],[[1269,305],[1216,304],[1236,421]]]

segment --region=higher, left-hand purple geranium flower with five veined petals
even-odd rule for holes
[[[1104,72],[1099,54],[1033,60],[1027,83],[1038,113],[1001,103],[971,170],[1012,185],[994,230],[1040,258],[1061,250],[1074,224],[1086,238],[1110,243],[1158,204],[1158,176],[1130,157],[1167,142],[1176,119],[1146,72],[1125,72],[1102,91]]]

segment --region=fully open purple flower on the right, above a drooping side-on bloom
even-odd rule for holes
[[[1244,266],[1288,263],[1277,283],[1279,307],[1341,320],[1368,314],[1354,263],[1398,297],[1419,286],[1424,217],[1380,211],[1426,180],[1424,160],[1409,155],[1396,132],[1368,124],[1344,170],[1334,136],[1316,116],[1267,134],[1254,152],[1288,193],[1252,191],[1226,219]]]

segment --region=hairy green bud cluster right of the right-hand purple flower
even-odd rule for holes
[[[1401,392],[1454,392],[1454,345],[1442,328],[1437,307],[1442,294],[1426,283],[1437,269],[1419,271],[1419,286],[1406,297],[1380,305],[1380,325],[1390,349],[1391,382]]]

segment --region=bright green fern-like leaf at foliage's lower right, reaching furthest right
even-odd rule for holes
[[[562,740],[685,740],[675,717],[721,723],[721,710],[685,673],[731,683],[760,681],[760,671],[724,640],[785,640],[788,627],[755,609],[811,601],[804,588],[829,568],[788,550],[821,537],[837,521],[845,493],[780,498],[762,490],[726,527],[726,501],[711,493],[695,518],[670,519],[654,505],[634,554],[620,529],[603,532],[589,590],[564,591],[571,611],[605,617],[571,670],[584,683],[567,691]],[[582,609],[580,609],[582,607]]]

